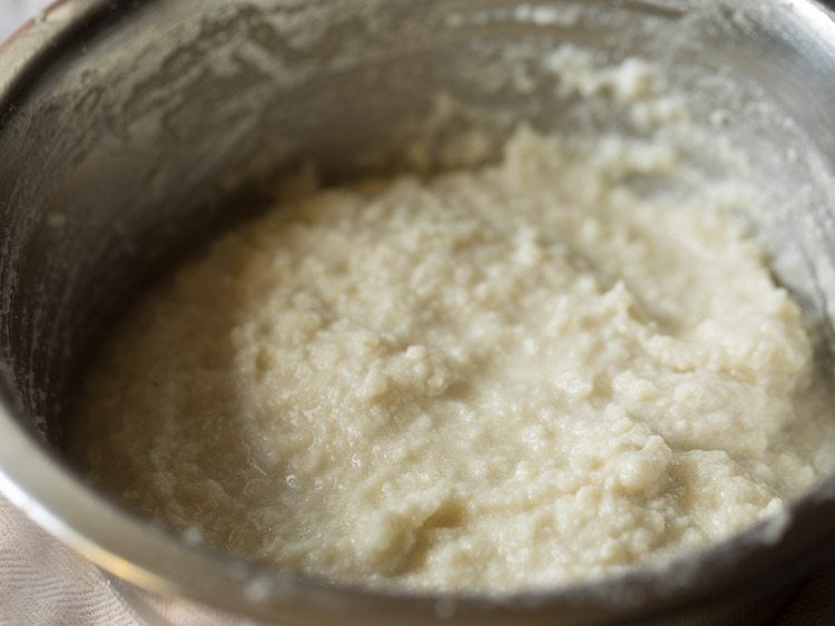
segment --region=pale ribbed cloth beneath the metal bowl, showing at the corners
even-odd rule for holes
[[[0,40],[48,0],[0,0]],[[780,626],[835,624],[835,565],[808,578]],[[210,610],[114,583],[0,496],[0,625],[245,625]]]

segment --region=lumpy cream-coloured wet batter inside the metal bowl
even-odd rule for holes
[[[800,310],[727,202],[638,197],[630,154],[520,131],[228,233],[112,338],[76,458],[213,545],[418,589],[590,579],[780,511],[835,440]]]

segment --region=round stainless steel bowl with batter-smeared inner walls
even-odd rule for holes
[[[538,72],[564,42],[670,68],[694,115],[747,155],[773,199],[757,231],[776,272],[832,327],[835,13],[824,2],[66,0],[0,48],[2,491],[130,584],[266,622],[765,619],[835,556],[835,477],[788,517],[669,568],[501,597],[405,595],[189,547],[61,453],[107,329],[283,172],[442,167],[454,158],[404,146],[472,129],[498,145],[520,121],[563,134],[619,124],[556,97]],[[440,91],[455,106],[432,117]]]

